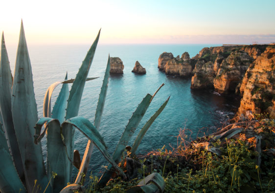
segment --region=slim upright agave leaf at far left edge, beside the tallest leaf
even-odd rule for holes
[[[8,139],[7,143],[11,150],[10,153],[14,157],[15,167],[18,171],[18,175],[24,181],[23,162],[12,121],[11,86],[12,75],[4,40],[4,33],[2,33],[0,58],[0,116],[2,118],[3,130],[5,131]]]

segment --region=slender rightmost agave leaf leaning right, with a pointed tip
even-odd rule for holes
[[[145,135],[145,133],[147,132],[147,130],[149,129],[149,127],[152,125],[152,123],[155,121],[155,119],[160,115],[160,113],[162,112],[162,110],[164,109],[164,107],[166,106],[166,104],[168,103],[170,99],[170,96],[168,97],[168,99],[160,106],[160,108],[155,112],[155,114],[146,122],[146,124],[143,126],[143,128],[139,131],[138,136],[134,142],[134,145],[131,149],[131,155],[133,156],[136,153],[136,150],[138,149],[138,146],[143,138],[143,136]]]

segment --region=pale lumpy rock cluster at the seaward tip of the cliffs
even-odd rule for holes
[[[160,55],[158,67],[164,71],[165,74],[182,77],[191,76],[193,70],[188,52],[184,52],[181,58],[180,56],[174,58],[172,53],[163,52]]]

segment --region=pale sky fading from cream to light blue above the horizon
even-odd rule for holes
[[[275,0],[4,0],[0,31],[17,44],[275,42]]]

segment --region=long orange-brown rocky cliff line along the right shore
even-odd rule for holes
[[[269,113],[275,118],[275,45],[205,47],[193,58],[163,52],[158,68],[165,74],[191,77],[191,89],[215,89],[240,95],[238,114]]]

